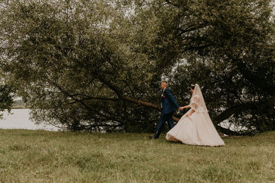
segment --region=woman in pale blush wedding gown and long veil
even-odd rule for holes
[[[181,107],[190,110],[167,132],[166,139],[189,145],[225,145],[209,117],[199,84],[191,85],[190,91],[192,93],[190,104]]]

